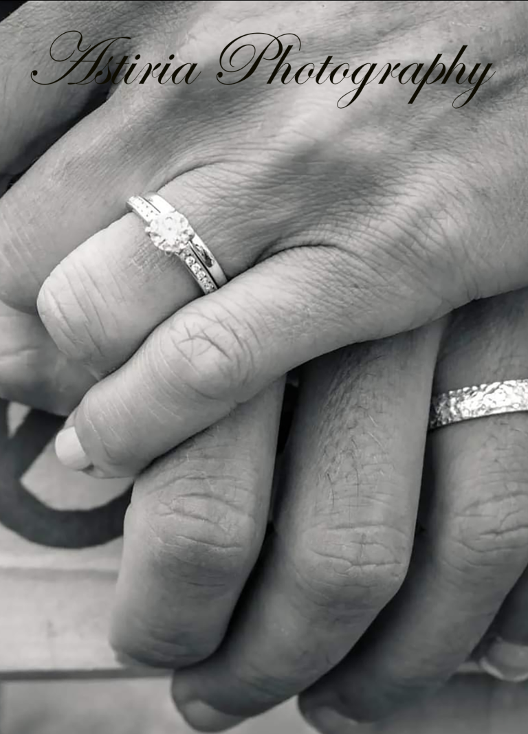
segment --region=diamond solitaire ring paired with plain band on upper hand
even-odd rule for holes
[[[174,255],[189,269],[204,294],[227,283],[223,269],[209,247],[198,236],[187,217],[159,194],[131,196],[127,206],[147,225],[152,244]]]

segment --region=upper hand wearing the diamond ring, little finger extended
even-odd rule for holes
[[[110,29],[119,7],[105,11]],[[40,314],[65,354],[112,371],[76,411],[66,462],[137,473],[294,366],[528,282],[525,59],[515,41],[524,7],[482,5],[485,27],[500,12],[512,40],[479,35],[479,59],[504,70],[478,90],[480,103],[455,110],[453,80],[429,87],[412,126],[405,86],[371,84],[338,109],[341,87],[268,85],[269,66],[227,88],[216,79],[220,51],[237,34],[292,25],[300,61],[323,48],[336,59],[358,48],[365,58],[405,59],[413,48],[429,59],[466,42],[474,6],[413,4],[405,22],[392,4],[299,7],[208,4],[176,23],[177,5],[134,4],[134,48],[157,59],[177,47],[200,79],[121,84],[4,197],[4,299],[34,307],[62,261],[40,291]],[[31,98],[58,87],[70,94],[35,84]],[[231,283],[181,308],[197,295],[187,272],[153,250],[133,214],[121,216],[126,197],[145,189],[184,211]]]

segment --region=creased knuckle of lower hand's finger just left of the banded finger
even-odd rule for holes
[[[317,528],[303,537],[298,581],[316,604],[333,612],[379,611],[405,579],[407,546],[394,528]]]

